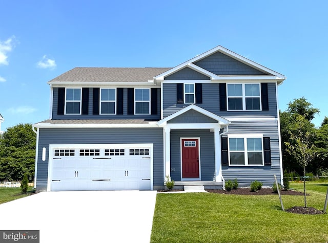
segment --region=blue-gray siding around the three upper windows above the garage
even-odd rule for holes
[[[92,115],[93,109],[93,88],[89,88],[89,115],[57,115],[58,88],[53,88],[53,109],[52,119],[160,119],[160,89],[157,89],[157,115],[128,115],[128,89],[123,90],[123,115]]]

